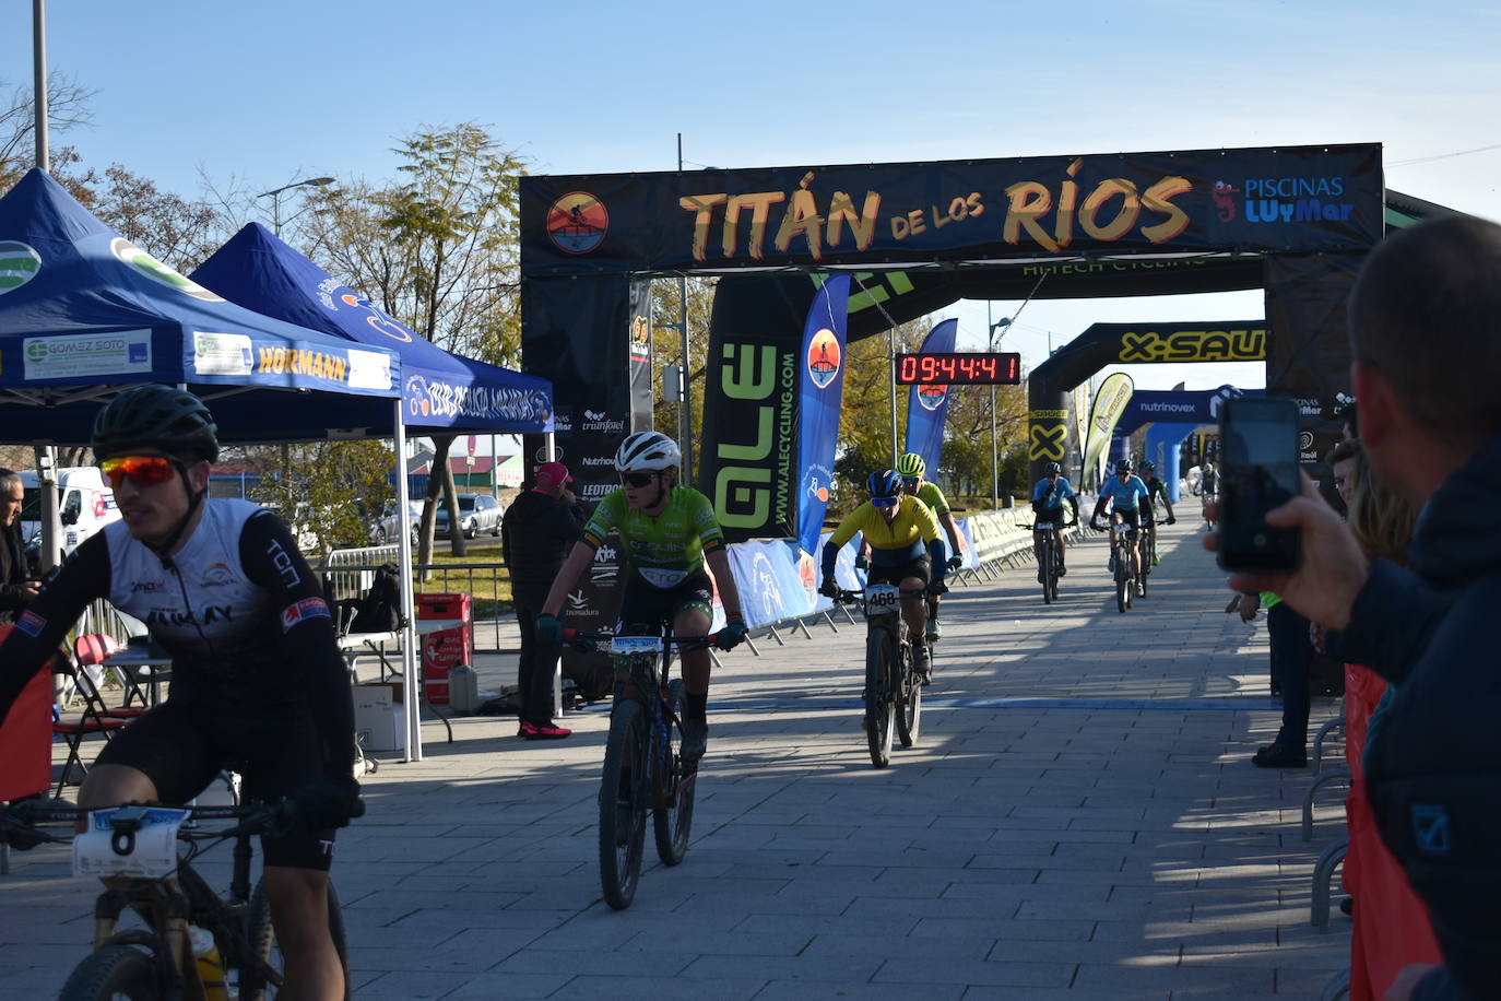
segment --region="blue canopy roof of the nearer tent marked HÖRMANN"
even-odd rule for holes
[[[224,300],[29,171],[0,198],[0,440],[87,444],[141,383],[186,384],[225,441],[389,435],[401,360]]]

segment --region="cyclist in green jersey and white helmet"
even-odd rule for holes
[[[746,638],[725,533],[708,498],[690,486],[678,486],[680,464],[677,443],[660,432],[638,431],[620,443],[615,452],[620,486],[599,501],[552,581],[537,615],[539,644],[561,641],[558,612],[563,602],[611,530],[620,533],[629,566],[617,635],[654,635],[663,623],[671,626],[674,636],[708,635],[717,584],[726,621],[716,645],[734,650]],[[704,572],[705,563],[713,579]],[[702,756],[708,744],[708,650],[683,651],[683,753],[687,756]]]

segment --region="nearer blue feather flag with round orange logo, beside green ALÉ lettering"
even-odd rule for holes
[[[818,534],[835,482],[835,444],[844,402],[844,344],[848,327],[850,276],[835,275],[814,296],[803,326],[803,371],[797,380],[797,540],[817,555]]]

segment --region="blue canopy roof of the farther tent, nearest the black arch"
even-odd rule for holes
[[[246,309],[395,350],[402,419],[420,434],[552,431],[552,383],[450,354],[273,236],[246,225],[192,273]]]

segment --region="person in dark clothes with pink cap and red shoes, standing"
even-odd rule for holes
[[[512,501],[500,525],[516,624],[521,627],[518,737],[527,740],[558,740],[573,732],[552,722],[554,666],[539,660],[536,630],[536,618],[546,602],[552,578],[584,528],[584,512],[567,488],[572,482],[566,465],[543,462],[537,467],[536,486]]]

